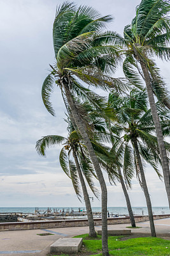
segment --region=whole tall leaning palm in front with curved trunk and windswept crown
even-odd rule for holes
[[[52,115],[55,115],[49,98],[54,84],[60,87],[62,96],[69,105],[71,122],[75,123],[87,146],[101,186],[102,244],[103,255],[106,256],[109,255],[106,183],[87,129],[76,107],[74,95],[101,104],[103,103],[101,97],[96,97],[95,93],[89,92],[80,84],[80,81],[103,89],[108,86],[122,86],[120,80],[111,79],[103,73],[110,67],[114,70],[117,64],[117,49],[111,45],[104,45],[104,42],[101,43],[99,40],[106,22],[110,20],[109,15],[101,17],[96,10],[88,6],[76,8],[73,3],[67,1],[60,5],[53,22],[55,64],[50,66],[52,72],[46,77],[42,88],[45,107]],[[111,58],[111,54],[114,58]]]

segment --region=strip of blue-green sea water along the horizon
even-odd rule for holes
[[[48,207],[39,207],[39,210],[45,211]],[[79,207],[50,207],[57,209],[57,211],[66,212],[68,209],[71,212],[71,209],[78,211]],[[85,207],[80,207],[81,211],[85,211]],[[93,212],[101,212],[101,207],[92,207]],[[108,207],[110,214],[124,215],[128,214],[127,207]],[[146,207],[132,207],[134,214],[148,214]],[[152,207],[153,214],[170,214],[169,207]],[[34,213],[35,207],[0,207],[0,213],[2,212],[23,212],[23,213]]]

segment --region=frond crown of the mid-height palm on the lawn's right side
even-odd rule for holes
[[[162,175],[158,168],[158,164],[161,164],[158,141],[157,137],[154,136],[155,125],[153,123],[151,110],[147,109],[148,99],[146,92],[132,90],[130,95],[124,97],[124,99],[113,94],[110,95],[110,102],[111,106],[117,109],[117,119],[115,119],[117,122],[111,126],[111,132],[116,134],[116,136],[124,134],[122,139],[124,139],[125,143],[125,147],[124,144],[122,144],[119,153],[117,141],[113,144],[111,150],[115,154],[115,157],[119,155],[118,162],[124,163],[124,177],[127,185],[131,186],[131,183],[128,182],[129,180],[131,181],[133,175],[132,167],[134,164],[136,166],[136,175],[141,184],[138,160],[136,159],[136,153],[131,148],[134,138],[136,138],[142,159],[150,164],[161,178]],[[129,108],[129,106],[131,108]],[[160,116],[162,130],[166,135],[169,135],[169,111],[166,108],[162,108],[159,103],[157,103],[157,111]],[[166,141],[164,141],[164,143],[167,151],[169,151],[170,144]],[[124,160],[122,160],[122,156],[124,156]],[[129,176],[128,179],[126,175]]]

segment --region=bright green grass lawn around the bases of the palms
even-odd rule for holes
[[[83,250],[78,255],[101,256],[102,244],[101,236],[97,239],[90,239],[88,234],[83,237]],[[138,255],[157,255],[157,256],[170,256],[170,241],[157,237],[139,237],[127,239],[127,241],[120,241],[122,236],[109,236],[108,246],[110,255],[115,256],[138,256]],[[167,248],[166,248],[167,247]],[[90,254],[91,252],[91,254]],[[63,255],[62,256],[66,256]]]

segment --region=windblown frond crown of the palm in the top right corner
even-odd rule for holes
[[[170,99],[166,84],[159,74],[153,56],[162,60],[170,58],[170,1],[141,0],[136,8],[136,16],[132,23],[124,28],[124,74],[134,86],[140,88],[145,82],[141,63],[145,63],[150,74],[153,93],[162,105],[170,109]],[[146,75],[146,74],[145,74]]]

